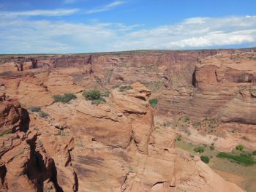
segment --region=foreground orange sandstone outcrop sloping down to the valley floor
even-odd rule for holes
[[[47,118],[2,99],[0,190],[243,191],[176,150],[176,133],[154,128],[151,91],[131,86],[99,105],[78,93],[42,107]]]

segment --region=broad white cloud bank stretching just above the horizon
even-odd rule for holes
[[[156,28],[122,23],[0,20],[0,53],[85,53],[256,45],[256,17],[188,18]]]

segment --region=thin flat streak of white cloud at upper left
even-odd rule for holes
[[[0,12],[1,17],[18,17],[18,16],[64,16],[72,15],[79,9],[54,9],[54,10],[31,10],[22,12]]]

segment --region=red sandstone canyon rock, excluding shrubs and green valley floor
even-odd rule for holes
[[[176,139],[253,151],[255,117],[256,48],[1,55],[0,191],[244,191]]]

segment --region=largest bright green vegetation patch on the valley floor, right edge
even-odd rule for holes
[[[230,153],[221,152],[217,155],[218,158],[227,158],[235,161],[237,164],[243,164],[245,166],[252,166],[255,164],[254,158],[250,153],[241,153],[240,155],[234,155]]]

